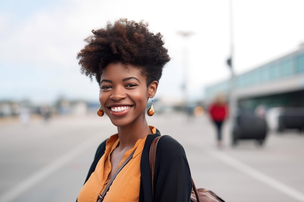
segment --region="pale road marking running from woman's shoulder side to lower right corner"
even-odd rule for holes
[[[287,196],[289,196],[299,202],[304,202],[304,194],[301,193],[300,191],[297,191],[297,190],[293,189],[292,187],[287,186],[287,185],[271,178],[270,176],[268,176],[260,171],[257,171],[255,169],[253,169],[252,167],[250,167],[220,151],[206,151],[206,152],[209,153],[210,155],[212,155],[213,157],[219,159],[220,161],[224,162],[225,164],[235,168],[236,170],[244,172],[245,174],[253,177],[254,179],[259,180],[262,183],[277,189],[278,191],[286,194]]]

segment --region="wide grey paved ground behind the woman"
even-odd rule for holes
[[[270,132],[263,147],[253,140],[231,147],[228,122],[218,149],[206,115],[147,120],[184,146],[197,187],[226,202],[304,202],[303,134]],[[74,202],[97,146],[114,133],[108,118],[95,114],[0,123],[0,202]]]

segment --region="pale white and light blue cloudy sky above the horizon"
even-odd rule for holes
[[[119,18],[163,35],[171,61],[156,98],[184,97],[186,82],[186,96],[203,99],[231,77],[231,53],[238,75],[297,50],[303,8],[304,0],[1,0],[0,100],[98,102],[98,83],[80,73],[76,55],[92,29]]]

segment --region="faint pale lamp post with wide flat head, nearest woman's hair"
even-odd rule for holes
[[[183,82],[182,82],[182,91],[184,95],[184,110],[187,110],[187,83],[188,83],[188,75],[187,75],[187,67],[188,67],[188,46],[187,46],[187,41],[191,35],[194,33],[192,31],[178,31],[177,32],[179,35],[181,35],[185,40],[184,40],[184,47],[183,47]]]

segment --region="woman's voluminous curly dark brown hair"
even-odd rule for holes
[[[111,62],[133,64],[141,68],[147,86],[159,81],[164,65],[170,61],[168,49],[160,33],[148,30],[143,20],[136,23],[120,18],[114,24],[107,22],[103,29],[92,30],[93,35],[84,39],[87,45],[77,53],[81,73],[100,84],[102,69]]]

